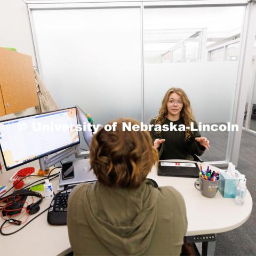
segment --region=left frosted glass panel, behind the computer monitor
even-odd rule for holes
[[[43,79],[61,108],[78,105],[100,124],[141,120],[139,7],[32,14]]]

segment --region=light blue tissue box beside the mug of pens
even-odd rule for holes
[[[238,177],[240,173],[236,170],[236,177],[231,177],[226,170],[220,170],[220,183],[219,191],[220,194],[225,198],[235,198],[236,197],[236,186],[238,183]]]

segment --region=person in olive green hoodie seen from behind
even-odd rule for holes
[[[146,177],[158,161],[149,132],[101,129],[90,146],[98,178],[73,189],[67,225],[74,255],[179,255],[187,231],[185,202],[173,187]],[[139,124],[140,125],[140,124]]]

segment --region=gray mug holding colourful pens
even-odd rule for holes
[[[200,177],[195,181],[194,186],[197,190],[201,191],[203,196],[212,198],[218,191],[219,181],[220,180],[205,180],[204,178]]]

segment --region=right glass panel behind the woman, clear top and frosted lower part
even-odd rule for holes
[[[239,50],[237,38],[242,30],[244,7],[145,7],[143,11],[146,122],[158,114],[163,96],[170,87],[185,90],[197,122],[230,122],[238,58],[226,61],[223,57],[218,58],[218,54],[221,49],[223,56],[231,55],[230,51],[225,52],[230,50],[226,46],[228,41],[236,42]],[[154,51],[151,44],[154,44]],[[169,63],[162,58],[166,52],[170,53]],[[213,59],[215,61],[211,61]],[[203,160],[225,160],[228,132],[201,134],[209,138],[211,145]]]

